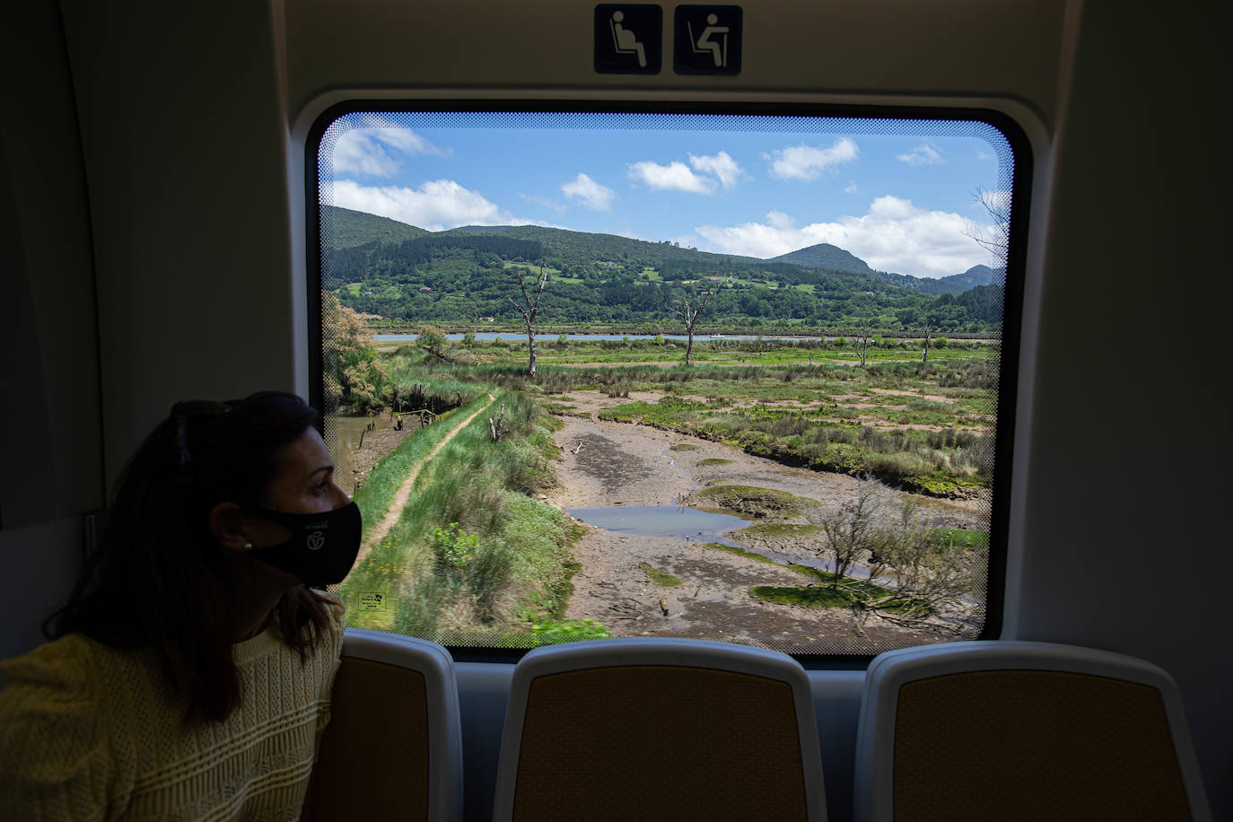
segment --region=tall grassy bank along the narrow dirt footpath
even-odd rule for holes
[[[538,645],[562,630],[576,566],[577,526],[533,494],[554,481],[560,425],[528,396],[496,389],[490,412],[454,437],[417,477],[398,523],[339,587],[355,627],[461,645]],[[377,521],[412,465],[487,397],[407,437],[356,494]],[[488,417],[504,405],[493,442]],[[367,534],[367,531],[366,531]],[[546,627],[545,627],[546,626]],[[563,625],[563,629],[576,626]],[[602,630],[582,626],[582,630]],[[545,636],[546,635],[546,636]],[[568,637],[562,637],[568,638]]]

